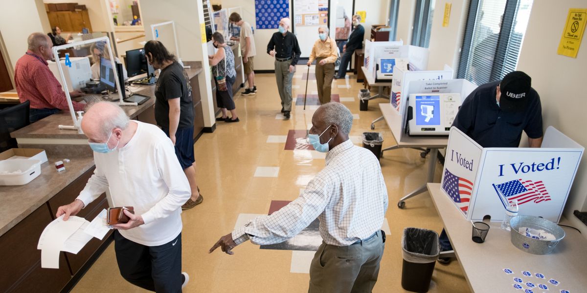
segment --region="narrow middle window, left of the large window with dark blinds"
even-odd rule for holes
[[[416,15],[411,35],[411,45],[419,47],[430,46],[430,32],[432,30],[432,17],[436,0],[417,0]]]

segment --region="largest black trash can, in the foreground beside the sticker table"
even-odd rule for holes
[[[405,228],[402,237],[402,288],[412,292],[428,292],[438,254],[440,246],[436,231]]]

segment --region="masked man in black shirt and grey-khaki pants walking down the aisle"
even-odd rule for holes
[[[281,97],[281,113],[284,113],[285,118],[289,118],[292,110],[292,78],[302,54],[298,39],[288,32],[290,26],[289,18],[282,18],[279,21],[279,32],[271,36],[267,45],[267,54],[275,57],[275,79]]]

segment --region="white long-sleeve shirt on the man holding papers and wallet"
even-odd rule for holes
[[[144,224],[119,230],[126,239],[158,246],[181,232],[181,205],[191,196],[171,139],[155,125],[134,121],[137,131],[123,147],[94,152],[96,169],[77,199],[85,206],[107,189],[114,207],[133,206]]]

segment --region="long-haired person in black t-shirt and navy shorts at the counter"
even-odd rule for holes
[[[155,120],[173,142],[177,159],[190,182],[191,197],[181,206],[182,210],[188,210],[204,200],[195,176],[194,102],[190,79],[176,56],[158,40],[147,42],[144,51],[147,62],[161,70],[155,86]]]

